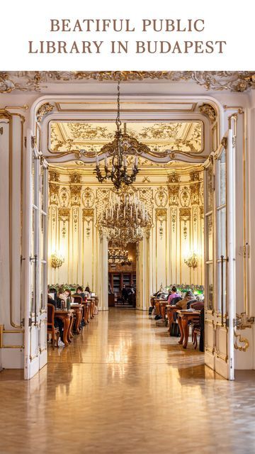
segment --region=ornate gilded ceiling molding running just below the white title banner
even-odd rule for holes
[[[45,84],[85,80],[98,82],[143,81],[145,79],[169,82],[193,81],[208,90],[246,92],[255,87],[254,71],[13,71],[0,72],[0,93],[41,92]]]

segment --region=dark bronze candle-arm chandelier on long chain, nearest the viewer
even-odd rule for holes
[[[117,109],[117,118],[116,126],[117,131],[115,132],[115,138],[113,142],[103,145],[100,150],[100,154],[105,154],[105,166],[104,173],[101,172],[99,167],[98,155],[96,156],[96,177],[98,182],[102,183],[108,179],[113,182],[113,185],[116,189],[120,189],[122,184],[130,185],[135,182],[136,175],[139,172],[138,169],[138,158],[137,154],[142,152],[148,152],[149,148],[147,145],[144,145],[136,138],[130,137],[127,134],[125,128],[124,133],[121,131],[121,121],[120,121],[120,81],[118,81],[118,109]],[[135,162],[132,167],[132,171],[128,173],[127,157],[126,155],[135,155]],[[112,156],[112,168],[108,169],[107,156]]]

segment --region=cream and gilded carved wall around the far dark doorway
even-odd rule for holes
[[[87,179],[83,182],[83,176],[77,175],[72,174],[71,181],[71,175],[57,175],[50,170],[49,251],[60,248],[65,262],[57,274],[48,267],[49,282],[57,279],[96,285],[98,219],[114,191],[101,184],[89,186]],[[165,184],[145,183],[138,188],[128,187],[126,192],[137,194],[153,221],[145,237],[151,243],[149,260],[154,291],[161,283],[203,284],[203,272],[190,273],[183,260],[186,250],[198,248],[198,254],[203,253],[202,172],[184,175],[173,172]],[[73,279],[75,282],[71,282]]]

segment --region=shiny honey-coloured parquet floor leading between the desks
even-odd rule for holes
[[[254,374],[227,382],[140,311],[100,313],[29,382],[0,373],[0,453],[254,453]]]

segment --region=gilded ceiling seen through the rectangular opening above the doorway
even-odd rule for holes
[[[125,123],[129,135],[147,145],[152,153],[166,150],[186,153],[203,151],[202,121],[169,121],[167,123]],[[86,150],[100,152],[113,140],[115,123],[50,122],[50,152],[65,153]]]

